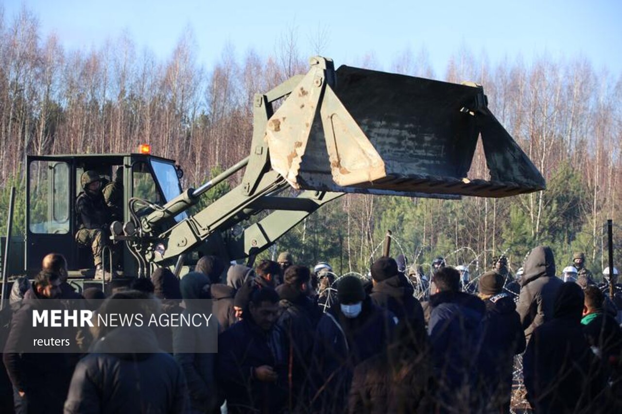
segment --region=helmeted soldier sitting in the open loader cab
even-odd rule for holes
[[[96,181],[100,181],[100,177],[93,171],[83,173],[80,178],[83,191],[76,200],[76,214],[80,224],[76,241],[91,247],[93,262],[95,267],[98,267],[101,265],[101,252],[105,246],[104,236],[110,221],[110,213],[101,191],[93,193],[86,190],[89,184]]]

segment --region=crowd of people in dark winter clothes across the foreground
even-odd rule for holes
[[[77,292],[65,259],[49,254],[32,283],[14,283],[2,316],[0,411],[509,413],[524,353],[534,412],[622,412],[622,287],[617,270],[605,276],[613,298],[584,255],[559,277],[544,246],[516,275],[500,257],[476,283],[442,257],[430,275],[403,255],[381,257],[366,278],[337,277],[325,262],[310,269],[289,253],[253,269],[204,256],[181,279],[160,268],[106,298],[99,288]],[[195,351],[214,339],[207,330],[132,326],[78,329],[71,352],[15,351],[33,309],[77,298],[98,313],[115,298],[211,312],[218,352]],[[141,352],[119,352],[123,344]]]

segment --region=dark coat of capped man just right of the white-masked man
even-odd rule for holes
[[[400,324],[409,323],[417,331],[425,329],[424,310],[403,276],[395,275],[376,283],[369,297],[377,306],[391,311]]]

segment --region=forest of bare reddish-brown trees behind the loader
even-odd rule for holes
[[[253,94],[306,73],[308,57],[321,54],[325,42],[300,50],[290,30],[270,55],[248,50],[239,57],[227,46],[213,67],[204,67],[190,30],[162,60],[137,50],[128,36],[65,50],[27,9],[0,16],[2,212],[6,186],[23,180],[26,153],[119,153],[148,143],[154,154],[182,165],[185,185],[207,180],[210,168],[248,155]],[[393,62],[378,62],[373,54],[356,62],[332,58],[337,65],[480,83],[493,113],[547,179],[547,191],[459,202],[349,195],[300,224],[279,249],[308,264],[333,260],[339,270],[361,269],[392,229],[411,256],[469,246],[506,252],[518,263],[529,247],[546,242],[564,260],[571,249],[583,249],[600,265],[603,223],[613,218],[622,224],[622,74],[581,57],[541,56],[526,63],[508,53],[490,62],[462,47],[444,73],[434,73],[424,47]],[[471,173],[486,172],[478,151]],[[307,243],[295,244],[299,240]],[[480,259],[490,260],[485,256]]]

